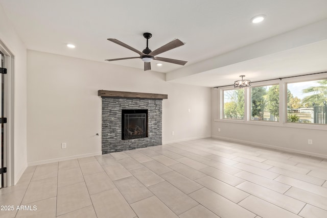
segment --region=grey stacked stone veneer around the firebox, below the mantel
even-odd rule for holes
[[[122,140],[122,110],[148,110],[148,137]],[[102,154],[162,144],[162,99],[102,98]]]

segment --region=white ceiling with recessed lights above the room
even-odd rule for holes
[[[186,44],[160,57],[188,63],[151,65],[153,71],[168,73],[172,82],[214,87],[232,84],[239,75],[259,81],[327,70],[327,31],[314,28],[315,22],[327,19],[326,0],[0,0],[0,4],[30,50],[106,62],[137,56],[107,38],[140,51],[146,46],[144,32],[153,34],[152,51],[178,38]],[[267,16],[264,22],[251,23],[259,14]],[[305,26],[313,27],[307,32],[314,30],[315,38],[296,34]],[[292,31],[297,44],[292,38],[278,38]],[[266,39],[284,45],[261,55],[257,46],[256,56],[238,56],[237,51]],[[68,49],[67,43],[76,49]],[[206,59],[219,61],[225,54],[230,54],[228,63],[200,67],[209,63]],[[143,68],[140,59],[106,63]]]

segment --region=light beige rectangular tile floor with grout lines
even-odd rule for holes
[[[327,160],[205,138],[30,166],[0,217],[327,217],[326,179]]]

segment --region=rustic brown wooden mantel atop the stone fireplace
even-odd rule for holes
[[[99,90],[101,98],[168,99],[168,94]]]

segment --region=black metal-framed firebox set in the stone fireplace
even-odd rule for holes
[[[122,110],[122,140],[148,137],[148,110]]]

